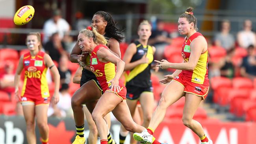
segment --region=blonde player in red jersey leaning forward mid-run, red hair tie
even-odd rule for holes
[[[110,111],[126,130],[131,132],[147,130],[132,120],[125,100],[126,88],[123,82],[120,81],[125,63],[109,50],[105,45],[106,42],[104,36],[100,35],[93,26],[80,31],[78,35],[78,45],[83,52],[88,52],[91,55],[90,67],[84,66],[83,68],[91,70],[95,74],[104,92],[92,113],[101,144],[108,144],[108,128],[104,116]]]

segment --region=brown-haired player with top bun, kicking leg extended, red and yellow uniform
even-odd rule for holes
[[[198,135],[201,144],[212,144],[204,133],[199,122],[193,120],[198,105],[204,100],[209,90],[208,79],[208,50],[207,42],[201,33],[197,32],[197,19],[193,15],[193,8],[187,8],[178,20],[178,30],[186,35],[182,46],[183,63],[169,63],[166,60],[156,61],[160,68],[174,68],[176,71],[164,76],[161,83],[168,83],[162,93],[161,100],[152,115],[147,132],[153,135],[154,130],[162,122],[167,107],[185,96],[182,122]],[[134,133],[135,140],[143,140],[145,133]]]

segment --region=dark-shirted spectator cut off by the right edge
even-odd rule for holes
[[[256,55],[254,49],[253,45],[248,46],[248,56],[243,58],[243,63],[240,69],[241,76],[250,79],[256,78]]]

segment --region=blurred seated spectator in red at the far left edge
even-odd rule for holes
[[[9,95],[14,92],[14,65],[11,61],[6,61],[4,73],[0,74],[0,89]]]

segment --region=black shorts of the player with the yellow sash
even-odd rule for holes
[[[134,85],[126,85],[126,98],[129,100],[137,100],[143,92],[153,92],[153,87],[137,87]]]

